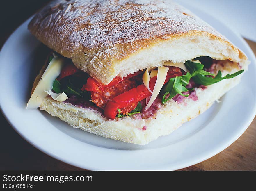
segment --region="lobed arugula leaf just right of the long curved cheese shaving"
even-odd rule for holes
[[[188,91],[188,89],[184,85],[187,85],[189,83],[189,76],[190,74],[187,73],[186,75],[176,76],[175,78],[171,78],[162,90],[163,92],[166,92],[163,95],[162,103],[166,103],[166,101],[168,101],[169,99],[172,99],[177,94],[188,97],[189,96],[188,94],[184,95],[182,92]],[[182,81],[182,78],[183,78],[183,81]],[[170,95],[167,99],[165,99],[167,94],[170,94]]]

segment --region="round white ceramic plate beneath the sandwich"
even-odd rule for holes
[[[129,144],[75,129],[40,110],[26,110],[35,69],[45,59],[44,48],[24,22],[0,52],[1,109],[13,128],[48,155],[91,170],[175,170],[214,156],[246,130],[256,110],[256,60],[246,42],[220,21],[196,8],[194,13],[227,36],[252,63],[241,83],[199,117],[171,135],[146,146]],[[10,151],[11,152],[11,151]]]

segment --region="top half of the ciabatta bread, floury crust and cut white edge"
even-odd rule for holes
[[[166,60],[247,59],[214,28],[173,1],[56,0],[35,15],[29,30],[104,84]],[[195,50],[191,52],[190,46]],[[164,51],[169,54],[161,55]]]

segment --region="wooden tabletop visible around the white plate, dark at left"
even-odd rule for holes
[[[12,2],[7,4],[0,13],[2,26],[5,26],[1,29],[0,47],[19,24],[47,1],[20,1],[15,7]],[[12,15],[9,14],[10,9]],[[256,43],[246,41],[256,54]],[[1,113],[0,124],[0,170],[83,170],[56,160],[30,145],[13,130]],[[256,170],[256,118],[227,149],[202,163],[181,170]]]

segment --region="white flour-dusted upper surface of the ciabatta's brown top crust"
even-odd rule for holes
[[[189,10],[172,1],[57,0],[31,22],[47,44],[62,44],[60,53],[106,50],[135,40],[207,31],[221,35]],[[40,30],[39,30],[40,29]],[[32,29],[33,31],[33,29]],[[70,46],[66,46],[69,44]]]

